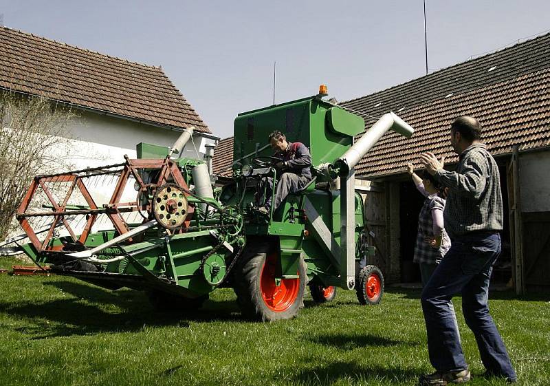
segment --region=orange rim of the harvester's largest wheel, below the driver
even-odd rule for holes
[[[281,279],[281,285],[275,285],[277,255],[271,253],[265,258],[260,273],[260,290],[262,298],[270,310],[285,312],[294,303],[300,292],[300,279]],[[299,272],[298,272],[299,275]]]

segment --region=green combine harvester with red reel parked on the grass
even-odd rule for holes
[[[177,158],[192,128],[172,149],[142,143],[137,159],[38,175],[17,212],[25,235],[12,241],[51,272],[144,290],[162,311],[195,310],[222,287],[234,289],[243,316],[259,321],[295,317],[308,284],[318,303],[336,288],[379,303],[384,278],[369,264],[375,250],[366,244],[353,167],[389,129],[407,137],[413,129],[390,112],[355,140],[363,118],[323,96],[239,114],[232,178],[221,188],[206,162]],[[252,208],[265,198],[259,181],[280,177],[267,140],[275,129],[309,148],[314,177],[266,217]],[[94,195],[98,180],[108,202]],[[133,198],[124,202],[128,190]]]

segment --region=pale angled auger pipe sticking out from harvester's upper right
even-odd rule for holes
[[[407,122],[399,118],[392,111],[384,114],[342,157],[334,162],[336,167],[340,167],[340,175],[347,175],[389,129],[407,138],[410,138],[412,133],[415,132],[415,129],[412,129]]]

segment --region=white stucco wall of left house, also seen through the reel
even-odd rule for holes
[[[113,118],[100,114],[80,111],[67,127],[67,140],[60,140],[60,144],[54,149],[52,157],[61,161],[59,172],[80,170],[91,167],[102,167],[109,164],[124,163],[124,155],[130,158],[136,157],[135,146],[140,142],[171,147],[177,140],[180,131],[163,129],[145,125],[140,122]],[[203,138],[200,133],[195,133],[192,141],[188,142],[180,157],[197,158],[202,160],[207,143],[213,140]],[[86,178],[84,180],[94,202],[100,207],[109,203],[115,189],[118,175],[102,175]],[[129,178],[120,198],[120,202],[133,202],[136,199],[136,191],[133,189],[134,180]],[[58,186],[58,192],[54,195],[59,202],[63,201],[67,186]],[[87,205],[78,190],[71,195],[69,205]],[[44,197],[43,197],[44,198]],[[142,222],[139,213],[125,213],[126,222]],[[46,224],[47,218],[36,218],[36,228],[41,228],[42,222]],[[76,234],[82,232],[85,226],[85,217],[78,216],[69,220]],[[111,221],[105,215],[100,215],[94,225],[93,231],[113,228]],[[59,228],[59,235],[67,235],[63,227]]]

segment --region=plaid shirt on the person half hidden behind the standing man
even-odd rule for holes
[[[445,200],[437,194],[432,194],[424,200],[424,204],[418,215],[417,242],[415,244],[415,255],[412,258],[412,261],[415,263],[439,264],[439,261],[443,259],[445,253],[449,250],[450,239],[445,233],[445,229],[443,229],[441,246],[439,248],[430,246],[424,240],[426,237],[434,237],[432,211],[434,209],[443,211],[444,208]]]

